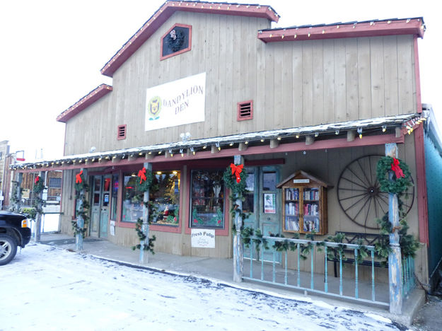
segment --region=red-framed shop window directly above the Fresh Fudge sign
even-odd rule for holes
[[[192,228],[224,228],[223,170],[192,170]]]

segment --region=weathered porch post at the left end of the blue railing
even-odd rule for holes
[[[235,155],[233,158],[233,163],[236,165],[244,164],[244,158],[240,155]],[[243,211],[243,201],[241,199],[236,199],[235,208],[235,228],[236,233],[233,236],[233,281],[240,283],[243,281],[243,257],[244,257],[244,247],[243,238],[241,238],[241,228],[243,227],[243,218],[241,217],[241,211]],[[232,206],[233,207],[233,206]]]

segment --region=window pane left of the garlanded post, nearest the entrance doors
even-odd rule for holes
[[[135,173],[124,173],[122,221],[136,222],[143,217],[144,192],[137,190]]]

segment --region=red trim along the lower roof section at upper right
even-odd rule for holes
[[[424,37],[425,26],[421,18],[336,23],[332,25],[269,29],[258,32],[263,42],[319,40],[349,37],[375,37],[381,35],[418,35]]]

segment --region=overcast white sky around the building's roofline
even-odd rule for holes
[[[43,149],[62,156],[64,123],[57,115],[112,80],[100,69],[163,0],[0,1],[0,141],[25,150],[26,161]],[[422,102],[442,112],[441,11],[437,1],[239,1],[270,5],[275,26],[423,16],[419,40]],[[438,115],[442,124],[442,114]]]

